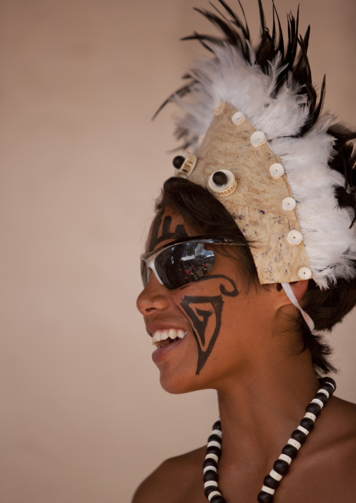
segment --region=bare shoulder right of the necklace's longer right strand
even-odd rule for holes
[[[355,501],[356,405],[332,397],[291,468],[281,501]]]

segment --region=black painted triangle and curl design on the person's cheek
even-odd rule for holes
[[[220,282],[219,294],[215,296],[189,296],[186,295],[181,299],[181,311],[189,317],[190,324],[193,330],[194,338],[198,346],[198,364],[196,367],[196,374],[199,375],[201,369],[205,365],[212,348],[217,341],[221,328],[221,314],[224,305],[223,296],[236,297],[238,296],[238,289],[235,282],[230,277],[218,274],[202,277],[198,282],[207,280],[224,279],[230,283],[232,289],[226,289],[225,285]],[[181,290],[189,287],[189,284],[184,285]],[[200,307],[198,307],[200,306]],[[207,333],[207,324],[210,317],[214,315],[214,329],[212,333]],[[210,331],[211,332],[211,331]]]

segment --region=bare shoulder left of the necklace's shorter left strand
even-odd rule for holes
[[[204,456],[205,448],[199,448],[165,460],[139,485],[132,503],[184,501],[183,493],[200,485]]]

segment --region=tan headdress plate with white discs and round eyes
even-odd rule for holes
[[[296,201],[266,135],[219,100],[196,163],[192,157],[187,155],[177,176],[207,188],[233,216],[249,240],[260,283],[308,280]]]

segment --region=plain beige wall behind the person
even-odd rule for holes
[[[1,1],[1,502],[129,502],[217,415],[213,392],[160,390],[135,310],[175,146],[172,110],[150,118],[196,48],[179,36],[207,29],[194,4],[207,6]],[[296,4],[276,0],[283,20]],[[256,39],[256,2],[245,8]],[[355,2],[301,0],[307,22],[327,106],[356,123]],[[355,321],[333,338],[338,395],[353,401]]]

